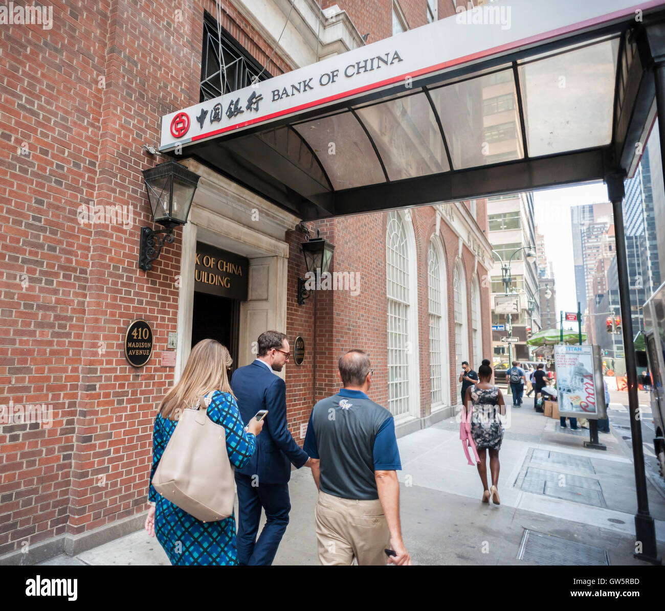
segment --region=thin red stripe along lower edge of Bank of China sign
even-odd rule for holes
[[[571,32],[575,32],[577,30],[583,30],[587,29],[591,26],[594,25],[599,25],[600,23],[606,23],[607,21],[612,21],[613,19],[618,19],[619,17],[626,17],[627,15],[630,15],[634,13],[636,10],[648,10],[653,7],[657,7],[659,5],[662,5],[662,0],[650,0],[649,2],[643,2],[640,4],[634,5],[630,9],[622,9],[620,11],[614,11],[614,13],[608,13],[606,15],[602,15],[601,17],[595,17],[593,19],[587,19],[586,21],[581,21],[579,23],[575,23],[573,25],[568,25],[564,26],[561,28],[557,28],[555,30],[551,30],[545,34],[539,34],[539,35],[533,35],[530,37],[527,37],[525,39],[521,39],[519,41],[513,41],[512,43],[505,43],[505,45],[499,45],[497,47],[492,47],[491,49],[485,49],[485,51],[478,51],[477,53],[470,53],[469,55],[465,55],[464,57],[458,57],[457,59],[452,59],[447,62],[441,62],[439,64],[434,64],[433,66],[428,66],[427,68],[421,68],[420,70],[415,70],[414,72],[409,72],[408,74],[400,74],[400,76],[393,76],[392,78],[386,78],[385,80],[381,80],[376,83],[364,85],[362,87],[358,87],[356,89],[352,89],[346,92],[334,94],[332,96],[328,96],[327,98],[321,98],[319,100],[313,100],[311,102],[306,102],[305,104],[300,104],[299,106],[294,106],[293,108],[287,108],[286,110],[279,110],[277,112],[273,112],[272,114],[267,114],[262,117],[257,117],[255,119],[250,119],[247,121],[242,121],[240,123],[236,123],[233,125],[229,125],[223,128],[219,128],[218,130],[214,130],[213,132],[206,132],[205,134],[199,134],[198,136],[192,136],[191,142],[196,142],[197,140],[203,140],[204,138],[211,138],[213,136],[219,136],[219,134],[224,134],[225,132],[231,132],[233,130],[239,130],[241,128],[245,128],[254,124],[259,124],[262,122],[267,122],[272,119],[276,119],[279,117],[287,116],[289,114],[293,114],[295,112],[299,112],[301,110],[307,110],[308,108],[314,108],[316,106],[321,106],[323,104],[328,104],[330,102],[335,102],[336,100],[341,100],[342,98],[348,98],[350,96],[355,96],[360,93],[364,93],[367,91],[371,91],[374,89],[380,89],[382,87],[388,86],[390,84],[394,84],[396,82],[399,82],[400,80],[404,80],[407,76],[410,76],[411,78],[414,78],[416,76],[423,76],[424,74],[429,74],[430,72],[437,72],[438,70],[444,70],[444,68],[450,68],[452,66],[457,66],[458,64],[464,64],[466,62],[470,62],[473,60],[477,59],[482,59],[483,57],[487,57],[489,55],[495,55],[496,53],[501,53],[502,51],[510,51],[511,49],[515,49],[517,47],[521,47],[523,45],[529,45],[531,43],[536,43],[539,41],[546,41],[547,39],[556,37],[556,36],[561,36],[563,34],[569,34]]]

